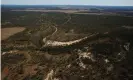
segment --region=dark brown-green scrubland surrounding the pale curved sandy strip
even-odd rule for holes
[[[133,27],[132,17],[3,11],[1,24],[26,28],[2,40],[3,80],[133,79],[133,30],[126,28]],[[47,40],[67,42],[92,34],[97,35],[73,45],[43,47]]]

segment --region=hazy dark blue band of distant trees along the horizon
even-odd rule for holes
[[[132,11],[133,6],[92,6],[92,5],[1,5],[2,10],[12,9],[91,9],[97,8],[104,11]]]

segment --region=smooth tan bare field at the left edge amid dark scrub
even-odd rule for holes
[[[12,28],[1,28],[1,40],[5,40],[10,36],[24,31],[26,28],[24,27],[12,27]]]

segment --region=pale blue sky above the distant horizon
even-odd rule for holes
[[[133,6],[133,0],[1,0],[1,4]]]

